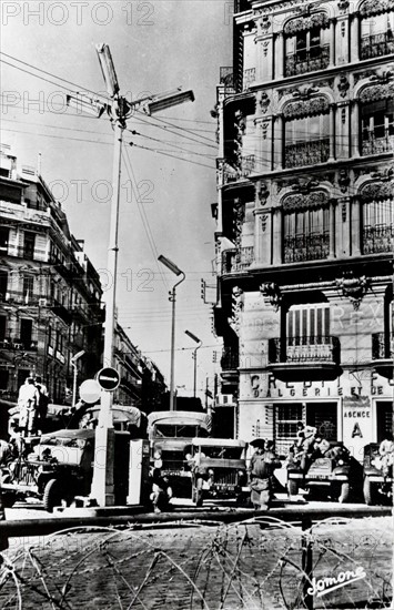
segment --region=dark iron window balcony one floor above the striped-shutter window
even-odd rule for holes
[[[330,234],[311,233],[292,235],[283,240],[283,262],[319,261],[327,258],[330,253]]]

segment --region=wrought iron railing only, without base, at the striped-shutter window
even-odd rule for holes
[[[269,339],[269,364],[337,364],[340,342],[331,335]]]

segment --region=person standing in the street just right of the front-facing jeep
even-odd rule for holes
[[[272,495],[272,476],[274,469],[281,467],[281,461],[273,450],[265,448],[262,438],[256,438],[251,445],[255,447],[247,469],[251,502],[255,509],[269,510]]]

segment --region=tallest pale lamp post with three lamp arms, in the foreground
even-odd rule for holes
[[[97,44],[101,71],[105,81],[107,92],[111,98],[110,103],[103,103],[99,99],[79,94],[67,96],[69,105],[77,106],[80,111],[84,110],[100,118],[104,112],[110,116],[114,132],[114,154],[113,154],[113,177],[112,177],[112,197],[111,197],[111,218],[110,218],[110,241],[108,248],[108,265],[110,282],[107,291],[105,302],[105,332],[104,332],[104,367],[112,367],[113,344],[115,331],[115,295],[117,295],[117,273],[118,273],[118,232],[119,232],[119,203],[120,203],[120,180],[121,180],[121,159],[123,131],[127,129],[127,120],[130,119],[134,109],[143,105],[148,114],[153,114],[179,105],[186,101],[194,101],[193,91],[181,91],[164,95],[149,95],[134,102],[129,102],[120,95],[117,72],[113,65],[111,51],[108,44]],[[93,480],[91,497],[100,506],[112,506],[114,504],[114,429],[112,418],[111,392],[102,392],[99,424],[95,430],[95,460],[93,468]]]

